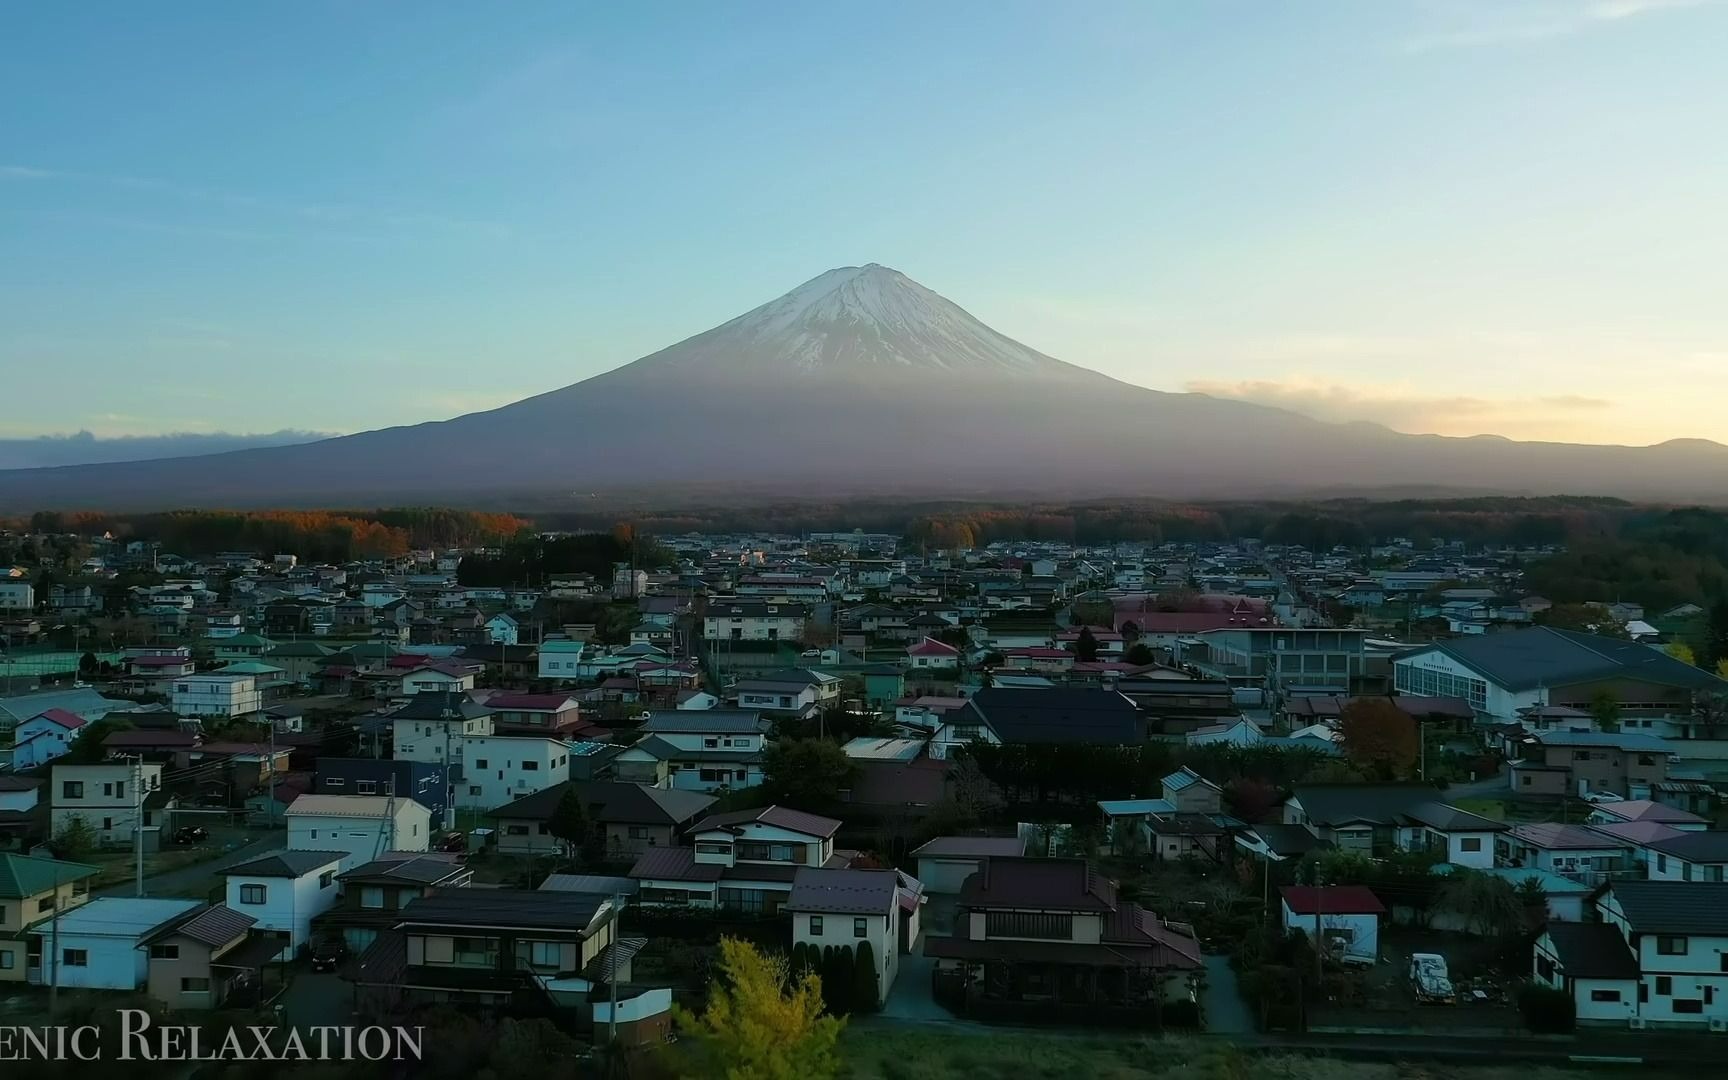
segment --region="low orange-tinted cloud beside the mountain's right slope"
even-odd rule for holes
[[[1405,385],[1341,385],[1317,378],[1289,380],[1192,380],[1192,394],[1234,397],[1270,404],[1337,423],[1369,420],[1389,429],[1436,435],[1477,435],[1519,430],[1559,434],[1585,423],[1586,416],[1614,408],[1604,397],[1545,394],[1534,397],[1477,397],[1469,394],[1424,394]]]

